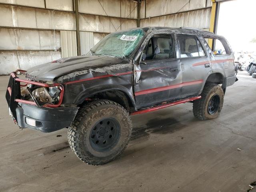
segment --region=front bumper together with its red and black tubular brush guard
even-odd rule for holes
[[[21,85],[20,82],[26,83]],[[23,100],[20,92],[21,86],[34,84],[42,87],[60,86],[60,100],[58,104],[46,104],[38,106],[36,101]],[[29,80],[22,80],[12,72],[6,90],[6,100],[9,111],[14,122],[18,123],[20,128],[32,128],[42,132],[53,132],[70,126],[74,120],[77,107],[60,107],[64,95],[64,87],[61,84],[43,84]]]

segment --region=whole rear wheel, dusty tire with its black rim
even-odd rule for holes
[[[201,99],[193,102],[194,116],[200,120],[217,118],[220,115],[224,101],[224,92],[221,86],[206,83],[201,96]]]

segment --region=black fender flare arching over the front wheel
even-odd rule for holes
[[[136,102],[135,102],[132,92],[128,88],[121,86],[121,85],[101,85],[101,86],[90,87],[89,89],[84,89],[74,99],[74,103],[80,104],[80,103],[84,102],[84,100],[86,98],[88,98],[94,94],[111,91],[111,90],[119,90],[119,91],[123,92],[127,96],[128,100],[131,102],[132,106],[133,107],[136,106]]]

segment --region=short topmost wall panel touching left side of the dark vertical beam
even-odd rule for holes
[[[73,0],[46,0],[46,8],[73,11]]]

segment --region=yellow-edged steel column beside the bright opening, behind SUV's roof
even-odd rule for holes
[[[217,25],[218,25],[218,17],[220,11],[220,4],[216,2],[216,0],[212,0],[212,13],[211,13],[211,20],[210,20],[210,32],[216,33],[217,32]],[[209,39],[209,46],[214,50],[215,42],[212,39]]]

